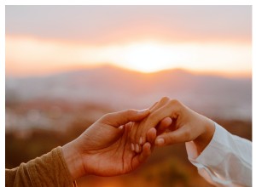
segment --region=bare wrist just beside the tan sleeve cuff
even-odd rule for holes
[[[73,180],[84,176],[84,164],[83,160],[76,150],[74,144],[74,140],[69,142],[61,147],[63,157],[66,161],[67,168],[69,173],[71,174]]]

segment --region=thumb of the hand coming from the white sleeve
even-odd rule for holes
[[[175,131],[164,133],[159,135],[155,141],[154,144],[158,146],[163,146],[166,144],[177,144],[189,141],[189,129],[188,127],[180,127]]]

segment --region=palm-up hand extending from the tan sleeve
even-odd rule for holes
[[[131,125],[139,125],[148,114],[148,110],[107,114],[79,138],[65,144],[62,151],[73,179],[86,174],[114,176],[129,173],[142,164],[151,154],[151,145],[143,144],[142,152],[137,154],[131,150],[127,137]]]

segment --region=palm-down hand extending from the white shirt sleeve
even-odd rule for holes
[[[176,99],[160,99],[150,109],[150,115],[140,126],[135,125],[131,132],[131,142],[133,144],[144,144],[148,131],[156,127],[161,120],[166,117],[172,118],[172,125],[166,133],[160,134],[155,139],[156,145],[176,144],[181,142],[193,141],[200,154],[212,139],[215,131],[212,120],[192,111]]]

